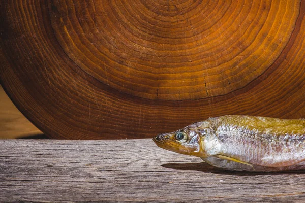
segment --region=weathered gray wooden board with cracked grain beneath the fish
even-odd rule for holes
[[[0,140],[2,202],[305,201],[305,171],[227,172],[150,139]]]

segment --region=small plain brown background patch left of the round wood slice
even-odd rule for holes
[[[42,132],[21,114],[0,86],[0,139],[38,134]]]

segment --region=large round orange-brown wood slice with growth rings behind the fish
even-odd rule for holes
[[[305,117],[305,1],[1,1],[0,81],[52,138]]]

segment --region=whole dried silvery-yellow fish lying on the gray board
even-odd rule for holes
[[[221,116],[159,134],[154,142],[225,170],[305,169],[305,119]]]

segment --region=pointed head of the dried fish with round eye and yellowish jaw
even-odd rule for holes
[[[207,121],[193,123],[177,131],[158,134],[153,141],[158,147],[185,155],[208,157],[214,131]],[[208,145],[208,146],[207,146]],[[205,148],[207,146],[208,148]]]

